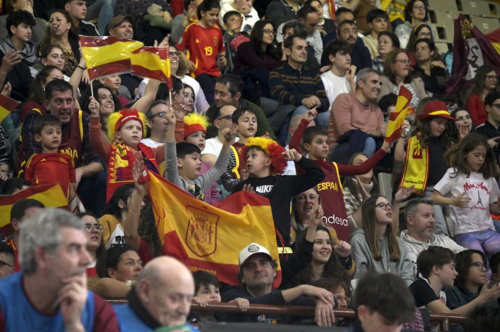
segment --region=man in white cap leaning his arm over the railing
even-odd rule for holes
[[[222,293],[222,302],[237,298],[248,300],[250,304],[276,306],[315,306],[314,322],[319,326],[331,326],[335,321],[333,307],[335,300],[325,289],[300,285],[287,290],[272,290],[276,278],[276,262],[269,251],[257,244],[250,243],[239,252],[239,278],[242,286],[229,286]],[[241,309],[241,308],[240,308]],[[276,315],[231,315],[229,319],[237,322],[287,323],[289,317]],[[287,321],[288,320],[288,321]]]

